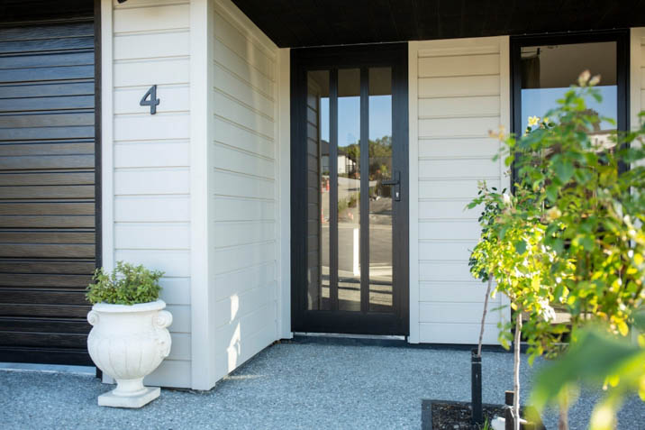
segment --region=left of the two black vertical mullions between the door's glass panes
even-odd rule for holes
[[[330,70],[329,82],[329,294],[330,310],[338,310],[338,69]]]

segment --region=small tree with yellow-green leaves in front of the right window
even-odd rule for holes
[[[645,128],[621,136],[598,133],[598,124],[613,123],[586,108],[586,97],[600,100],[593,88],[598,81],[583,73],[579,87],[547,114],[553,121],[531,117],[520,139],[503,137],[505,163],[516,169],[513,196],[485,190],[471,204],[502,207],[492,227],[496,242],[477,243],[473,258],[495,277],[495,289],[511,299],[515,312],[515,416],[520,334],[531,359],[555,356],[563,335],[575,343],[579,327],[590,322],[628,334],[634,309],[645,299],[645,151],[630,145]],[[550,303],[568,312],[568,325],[551,324]],[[507,346],[508,334],[501,340]],[[567,393],[560,389],[559,398]],[[560,428],[568,427],[566,421],[562,416]]]

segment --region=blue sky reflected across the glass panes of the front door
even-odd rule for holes
[[[346,102],[342,102],[345,100]],[[392,96],[369,96],[369,138],[390,135],[392,128]],[[359,142],[360,97],[341,97],[338,104],[339,145]],[[329,142],[329,97],[321,98],[321,139]]]

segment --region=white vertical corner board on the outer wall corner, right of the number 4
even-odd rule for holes
[[[214,377],[213,295],[208,283],[209,28],[208,0],[190,1],[190,298],[191,388]]]

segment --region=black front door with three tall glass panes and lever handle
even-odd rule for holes
[[[408,334],[407,44],[292,64],[292,329]]]

